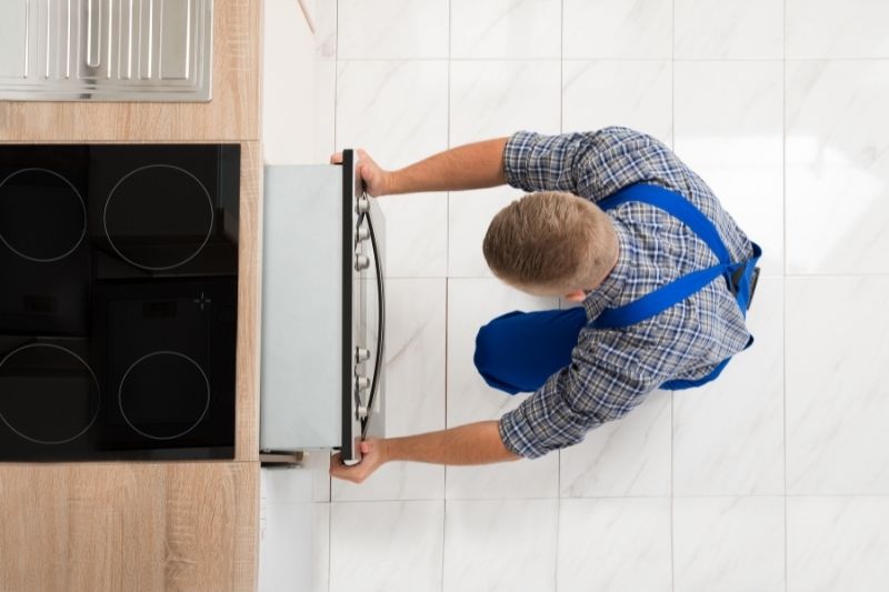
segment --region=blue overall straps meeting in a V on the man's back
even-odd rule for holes
[[[633,302],[602,311],[590,322],[590,327],[597,329],[628,327],[650,319],[725,274],[732,264],[713,223],[682,195],[657,185],[637,183],[606,198],[598,205],[602,210],[610,210],[629,201],[648,203],[680,220],[707,243],[719,263],[683,275]]]

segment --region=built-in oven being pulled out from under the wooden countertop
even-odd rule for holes
[[[263,189],[260,451],[289,460],[384,433],[384,221],[341,165],[269,165]]]

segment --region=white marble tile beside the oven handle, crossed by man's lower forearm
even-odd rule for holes
[[[387,283],[386,435],[444,428],[446,280]],[[360,485],[333,480],[334,501],[436,500],[444,468],[389,463]]]

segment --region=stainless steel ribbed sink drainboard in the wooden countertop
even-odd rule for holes
[[[212,0],[2,0],[0,100],[209,101]]]

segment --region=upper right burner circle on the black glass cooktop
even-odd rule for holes
[[[210,192],[191,172],[148,164],[111,189],[102,225],[121,259],[149,271],[167,271],[198,257],[213,232],[214,217]]]

